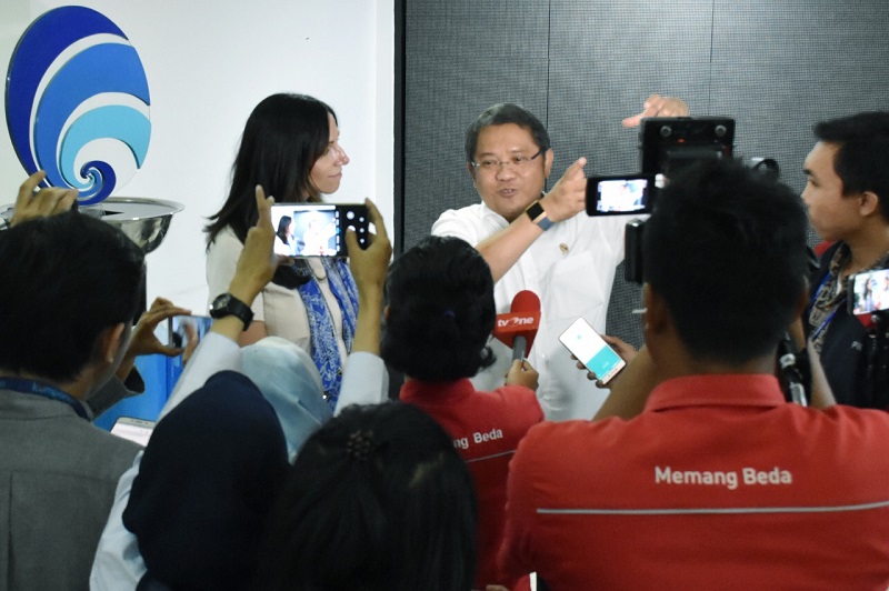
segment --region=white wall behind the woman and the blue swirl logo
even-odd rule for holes
[[[241,130],[274,92],[326,101],[351,158],[336,202],[373,199],[392,227],[394,0],[81,0],[129,37],[151,92],[143,168],[114,196],[179,201],[163,244],[148,256],[148,298],[206,308],[206,217],[224,200]],[[0,67],[21,34],[58,1],[2,0]],[[0,204],[14,201],[24,170],[0,97]]]

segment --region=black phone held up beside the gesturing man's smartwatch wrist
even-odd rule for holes
[[[655,174],[619,174],[587,179],[587,216],[650,213],[658,187]]]

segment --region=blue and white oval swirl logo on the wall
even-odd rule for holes
[[[19,40],[7,74],[7,122],[29,174],[98,203],[142,168],[151,138],[148,80],[127,36],[99,12],[62,7]]]

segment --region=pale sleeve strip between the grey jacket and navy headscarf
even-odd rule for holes
[[[92,591],[117,591],[136,589],[146,573],[146,563],[139,553],[136,535],[123,527],[123,510],[130,500],[132,481],[139,473],[142,452],[136,455],[132,467],[123,472],[114,491],[114,504],[108,515],[108,522],[99,538],[99,547],[90,572]]]

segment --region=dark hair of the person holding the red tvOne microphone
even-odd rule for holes
[[[380,354],[427,382],[471,378],[495,361],[488,337],[497,308],[491,269],[459,238],[430,236],[396,259]]]

